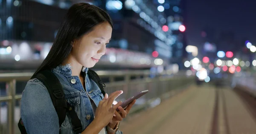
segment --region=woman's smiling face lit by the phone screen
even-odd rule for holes
[[[105,54],[111,34],[112,27],[108,22],[96,25],[93,31],[74,41],[70,54],[82,66],[93,67]]]

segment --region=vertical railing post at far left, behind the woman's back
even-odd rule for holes
[[[15,94],[16,94],[16,80],[13,79],[12,81],[9,81],[8,86],[6,88],[8,91],[8,96],[12,96],[12,100],[9,100],[8,102],[8,109],[7,109],[7,114],[8,114],[8,133],[7,134],[14,134],[15,133],[15,127],[14,127],[14,110],[15,110]]]

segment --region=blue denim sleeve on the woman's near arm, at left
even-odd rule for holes
[[[28,81],[23,91],[20,116],[27,134],[59,134],[58,115],[49,92],[38,79]]]

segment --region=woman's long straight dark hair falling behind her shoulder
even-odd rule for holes
[[[108,22],[113,28],[111,18],[101,8],[88,3],[72,5],[64,17],[51,50],[34,75],[41,70],[52,69],[60,65],[71,51],[71,42],[89,33],[94,26],[103,22]]]

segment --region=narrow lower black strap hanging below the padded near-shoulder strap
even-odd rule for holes
[[[75,131],[76,134],[80,134],[83,131],[81,121],[76,114],[74,106],[70,105],[70,103],[68,103],[68,102],[67,102],[67,112],[69,113],[69,115],[71,117],[71,123],[73,125],[73,130]]]

